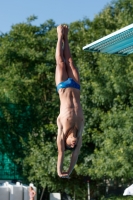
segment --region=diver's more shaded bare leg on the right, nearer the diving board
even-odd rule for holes
[[[64,59],[65,59],[65,63],[66,63],[67,74],[68,74],[69,78],[73,78],[77,83],[80,83],[79,73],[73,63],[71,52],[70,52],[70,47],[69,47],[69,43],[68,43],[68,27],[66,25],[64,25],[63,27],[64,27],[63,55],[64,55]]]

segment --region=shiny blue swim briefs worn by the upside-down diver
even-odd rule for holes
[[[57,91],[59,91],[60,88],[76,88],[80,90],[80,85],[76,83],[72,78],[68,78],[66,81],[61,82],[57,85]]]

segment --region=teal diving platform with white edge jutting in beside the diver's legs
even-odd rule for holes
[[[121,56],[133,53],[133,24],[84,46],[83,50]]]

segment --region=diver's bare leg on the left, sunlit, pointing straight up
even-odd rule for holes
[[[64,28],[62,25],[57,27],[57,46],[56,46],[56,72],[55,72],[55,82],[58,85],[60,82],[63,82],[68,79],[68,74],[66,71],[66,65],[63,56],[63,35]]]

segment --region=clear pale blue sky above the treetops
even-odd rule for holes
[[[9,32],[12,25],[26,22],[31,15],[38,19],[35,25],[53,19],[57,25],[93,20],[111,0],[0,0],[0,32]]]

